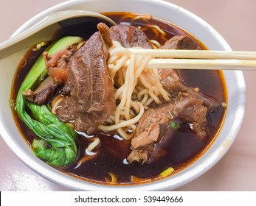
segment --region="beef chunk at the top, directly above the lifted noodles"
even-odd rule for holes
[[[118,24],[111,26],[110,31],[111,39],[120,42],[125,48],[140,46],[144,49],[152,49],[148,37],[135,26]]]

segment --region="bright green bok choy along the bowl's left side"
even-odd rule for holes
[[[75,43],[80,43],[80,37],[65,37],[50,45],[46,50],[54,54]],[[30,69],[21,88],[18,90],[16,110],[18,116],[40,139],[34,139],[32,149],[35,155],[46,160],[52,166],[69,166],[77,158],[77,145],[75,138],[77,133],[74,129],[61,122],[55,117],[46,105],[38,106],[28,102],[22,92],[38,85],[41,79],[46,77],[47,70],[44,58],[41,56]],[[30,110],[31,116],[27,113]]]

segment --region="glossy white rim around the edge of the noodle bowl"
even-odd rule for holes
[[[44,17],[47,13],[52,13],[55,11],[63,10],[66,7],[70,7],[71,5],[74,6],[76,4],[83,4],[86,2],[93,2],[93,4],[98,4],[100,1],[113,1],[113,0],[73,0],[73,1],[65,1],[63,3],[57,4],[53,7],[50,7],[49,9],[44,10],[41,13],[38,13],[38,15],[35,15],[33,18],[31,18],[29,21],[25,22],[23,25],[21,25],[12,35],[18,35],[20,32],[26,30],[32,24],[35,24],[38,19]],[[120,0],[119,2],[124,2],[125,0]],[[226,40],[212,27],[210,24],[208,24],[203,19],[199,18],[194,13],[191,13],[188,10],[185,10],[182,7],[177,6],[176,4],[167,2],[167,1],[161,1],[161,0],[130,0],[134,2],[142,2],[144,4],[161,4],[162,7],[169,7],[172,10],[178,10],[183,15],[188,15],[190,18],[193,18],[194,21],[196,21],[201,26],[204,26],[205,28],[209,29],[212,34],[220,40],[221,46],[224,47],[225,50],[231,50],[228,43],[226,43]],[[126,1],[128,2],[128,1]],[[92,10],[94,11],[94,10]],[[231,138],[229,138],[229,143],[224,148],[217,149],[214,151],[214,154],[218,153],[218,157],[214,156],[211,157],[210,152],[206,152],[207,163],[201,164],[201,163],[193,163],[193,168],[191,168],[190,174],[187,174],[187,168],[185,168],[183,171],[179,172],[179,180],[176,180],[175,175],[171,177],[167,177],[164,180],[158,180],[156,182],[151,183],[145,183],[142,185],[101,185],[101,184],[95,184],[87,181],[80,181],[74,177],[67,176],[66,174],[63,174],[60,171],[57,171],[55,169],[52,169],[51,166],[48,166],[43,161],[38,161],[37,157],[31,157],[30,154],[24,153],[23,149],[20,149],[18,144],[13,141],[10,134],[8,134],[4,130],[4,126],[0,123],[0,131],[1,136],[4,139],[4,141],[7,143],[7,145],[10,147],[10,149],[13,150],[13,152],[16,154],[16,156],[29,168],[31,168],[36,173],[40,174],[42,177],[45,177],[47,180],[50,180],[52,182],[57,183],[58,185],[62,185],[66,188],[71,188],[72,190],[89,190],[89,191],[128,191],[128,190],[137,190],[137,191],[159,191],[159,190],[173,190],[175,188],[179,188],[181,185],[186,184],[187,182],[191,182],[192,180],[195,180],[197,177],[201,176],[201,174],[204,174],[206,171],[208,171],[212,166],[215,165],[219,160],[221,160],[221,157],[226,154],[230,146],[232,146],[232,143],[235,141],[236,136],[238,135],[238,132],[241,128],[241,124],[243,122],[243,117],[245,113],[245,107],[246,107],[246,85],[243,78],[243,72],[242,71],[234,71],[235,77],[237,77],[239,89],[241,91],[241,104],[239,107],[239,111],[236,111],[237,116],[239,115],[240,118],[235,119],[235,128],[232,131],[229,132],[229,135]],[[207,154],[209,153],[209,154]],[[190,167],[190,166],[189,166]],[[200,172],[197,171],[197,168],[201,167]]]

